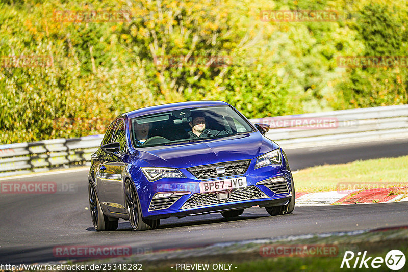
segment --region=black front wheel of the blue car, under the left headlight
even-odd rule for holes
[[[133,230],[152,230],[159,227],[160,219],[144,219],[142,217],[139,199],[130,181],[127,181],[125,184],[125,203],[127,217]]]

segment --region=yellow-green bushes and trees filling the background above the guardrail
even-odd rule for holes
[[[339,56],[406,55],[407,3],[371,2],[3,2],[0,143],[104,133],[122,112],[177,101],[224,100],[249,118],[406,104],[406,68],[337,66]],[[64,10],[126,19],[64,22]],[[261,10],[350,16],[263,22]]]

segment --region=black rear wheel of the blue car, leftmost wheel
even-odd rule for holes
[[[91,219],[93,227],[97,231],[116,230],[118,228],[119,220],[106,216],[100,207],[98,196],[96,195],[95,187],[92,182],[88,184],[89,195],[89,210],[91,212]]]

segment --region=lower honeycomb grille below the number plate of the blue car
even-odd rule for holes
[[[224,192],[224,191],[221,191]],[[217,193],[196,193],[193,194],[187,201],[184,203],[181,209],[189,209],[194,207],[208,206],[213,204],[220,204],[226,202],[242,201],[242,200],[252,200],[260,198],[269,198],[264,192],[258,189],[256,186],[247,186],[243,188],[235,188],[229,190],[230,198],[228,199],[218,199]]]

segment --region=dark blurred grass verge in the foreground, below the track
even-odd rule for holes
[[[281,256],[272,257],[261,254],[260,248],[270,245],[327,245],[337,246],[338,252],[333,257],[321,256]],[[209,270],[201,271],[222,271],[213,270],[214,264],[231,264],[232,272],[247,271],[391,271],[385,264],[381,264],[378,269],[370,267],[371,260],[375,257],[384,257],[390,250],[400,250],[408,256],[408,228],[398,227],[389,229],[377,229],[359,234],[337,233],[330,236],[310,236],[310,237],[284,237],[281,240],[265,239],[263,242],[249,243],[227,243],[224,245],[208,247],[181,249],[178,252],[152,252],[146,255],[132,255],[129,257],[118,257],[112,259],[87,260],[79,262],[79,265],[92,265],[102,263],[116,264],[142,264],[145,272],[174,272],[174,271],[198,271],[176,269],[177,264],[209,264]],[[343,256],[346,251],[357,253],[367,252],[366,258],[371,257],[367,262],[369,268],[340,268]],[[353,266],[355,257],[349,262]],[[67,264],[75,264],[69,261]],[[171,268],[173,267],[173,268]],[[180,267],[180,266],[179,266]],[[228,266],[227,266],[228,267]],[[406,271],[408,262],[399,271]],[[86,270],[89,271],[89,270]],[[225,271],[225,270],[224,270]]]

